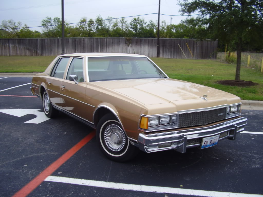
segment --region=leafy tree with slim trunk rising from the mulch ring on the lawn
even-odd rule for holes
[[[236,76],[240,81],[241,51],[244,38],[262,38],[263,1],[261,0],[181,0],[181,13],[198,12],[214,39],[233,43],[237,50]]]

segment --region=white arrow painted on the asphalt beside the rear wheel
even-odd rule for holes
[[[0,110],[0,112],[6,113],[12,116],[17,116],[17,117],[25,116],[27,114],[33,114],[37,116],[36,118],[33,118],[32,120],[29,120],[25,123],[38,124],[38,123],[41,123],[41,122],[44,122],[50,119],[45,115],[44,112],[41,112],[38,110],[41,110],[41,109],[13,109],[13,110]]]

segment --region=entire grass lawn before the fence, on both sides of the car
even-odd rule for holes
[[[0,72],[43,72],[55,56],[0,56]],[[241,79],[258,83],[251,87],[225,86],[217,81],[235,79],[236,65],[218,60],[151,58],[170,78],[190,81],[230,92],[242,100],[263,101],[263,74],[242,66]]]

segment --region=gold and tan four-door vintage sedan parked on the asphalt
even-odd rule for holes
[[[144,55],[60,55],[33,77],[31,91],[47,117],[62,111],[96,128],[101,151],[120,162],[139,149],[215,146],[235,139],[247,121],[239,97],[170,79]]]

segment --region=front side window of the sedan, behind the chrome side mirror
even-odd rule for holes
[[[83,75],[83,59],[82,58],[73,58],[68,69],[68,74],[66,79],[69,80],[69,75],[77,75],[78,82],[84,82]]]

